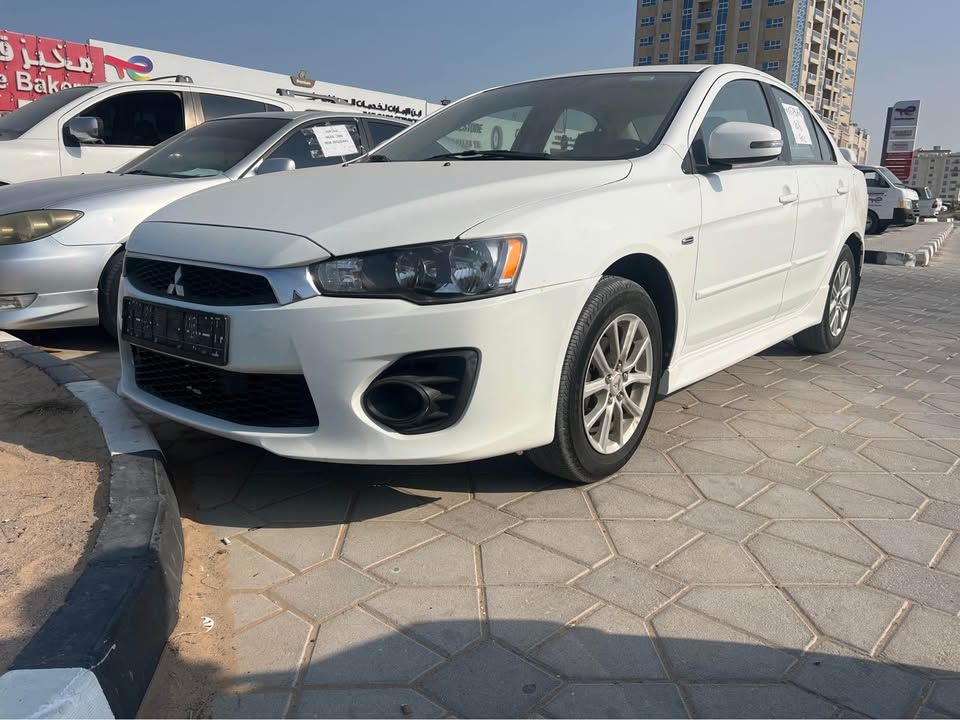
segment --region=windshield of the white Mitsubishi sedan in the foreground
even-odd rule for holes
[[[604,73],[488,90],[427,117],[369,160],[637,157],[660,142],[695,78],[686,72]]]

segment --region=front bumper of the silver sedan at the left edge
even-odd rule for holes
[[[37,295],[25,308],[0,310],[0,328],[41,330],[99,321],[100,274],[120,246],[67,246],[55,237],[0,246],[0,296]]]

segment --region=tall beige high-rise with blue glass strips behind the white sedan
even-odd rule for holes
[[[783,80],[840,147],[865,162],[851,121],[865,0],[637,0],[634,65],[737,63]]]

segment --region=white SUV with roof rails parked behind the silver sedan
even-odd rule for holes
[[[78,85],[0,117],[0,185],[113,170],[205,120],[316,106],[179,80]]]

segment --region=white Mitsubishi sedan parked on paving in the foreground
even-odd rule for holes
[[[619,470],[656,398],[843,340],[863,175],[789,87],[630,68],[477,93],[128,245],[121,392],[290,457]]]

